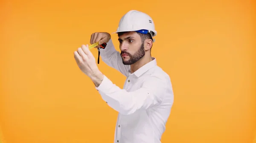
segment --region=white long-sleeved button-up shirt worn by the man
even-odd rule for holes
[[[123,89],[107,76],[96,87],[102,99],[119,112],[114,143],[161,143],[174,100],[168,74],[155,58],[131,73],[111,39],[100,54],[102,61],[127,77]]]

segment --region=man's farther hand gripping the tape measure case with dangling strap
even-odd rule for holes
[[[107,32],[95,32],[91,35],[90,44],[99,42],[95,48],[100,48],[100,45],[107,43],[111,39],[111,35]]]

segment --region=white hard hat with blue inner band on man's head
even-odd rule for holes
[[[141,11],[128,11],[119,21],[118,32],[137,31],[143,34],[150,33],[152,37],[157,35],[152,18]],[[154,42],[154,39],[153,39]]]

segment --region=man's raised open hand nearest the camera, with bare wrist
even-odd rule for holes
[[[80,70],[93,80],[94,84],[99,86],[103,80],[103,74],[99,71],[95,58],[90,52],[88,45],[82,45],[74,52],[76,63]]]

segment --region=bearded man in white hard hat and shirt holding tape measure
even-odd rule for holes
[[[82,45],[74,56],[83,73],[90,77],[102,99],[119,112],[114,143],[161,143],[173,104],[169,76],[151,57],[154,22],[147,14],[129,11],[115,32],[121,53],[115,50],[110,34],[93,33],[90,43],[107,43],[100,49],[102,60],[127,77],[121,89],[102,74],[88,45]],[[97,47],[99,48],[99,47]]]

